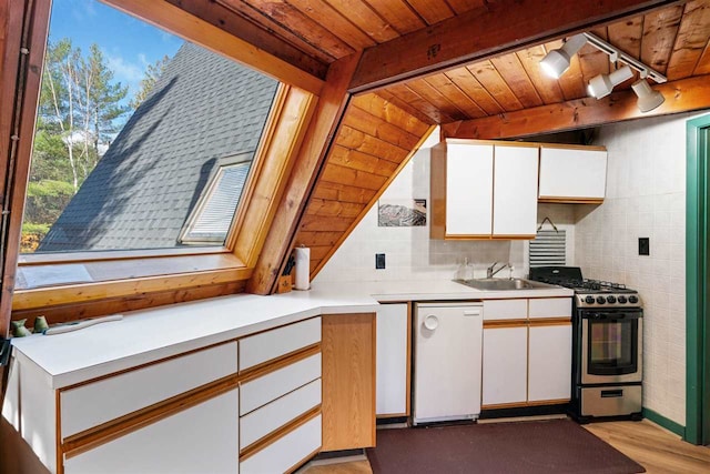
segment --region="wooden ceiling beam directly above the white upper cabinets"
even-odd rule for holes
[[[631,90],[625,90],[613,92],[602,100],[585,98],[484,119],[447,123],[442,125],[442,137],[510,139],[710,109],[709,83],[710,74],[655,84],[653,90],[661,92],[666,101],[646,113],[641,113],[636,107],[636,94]]]

